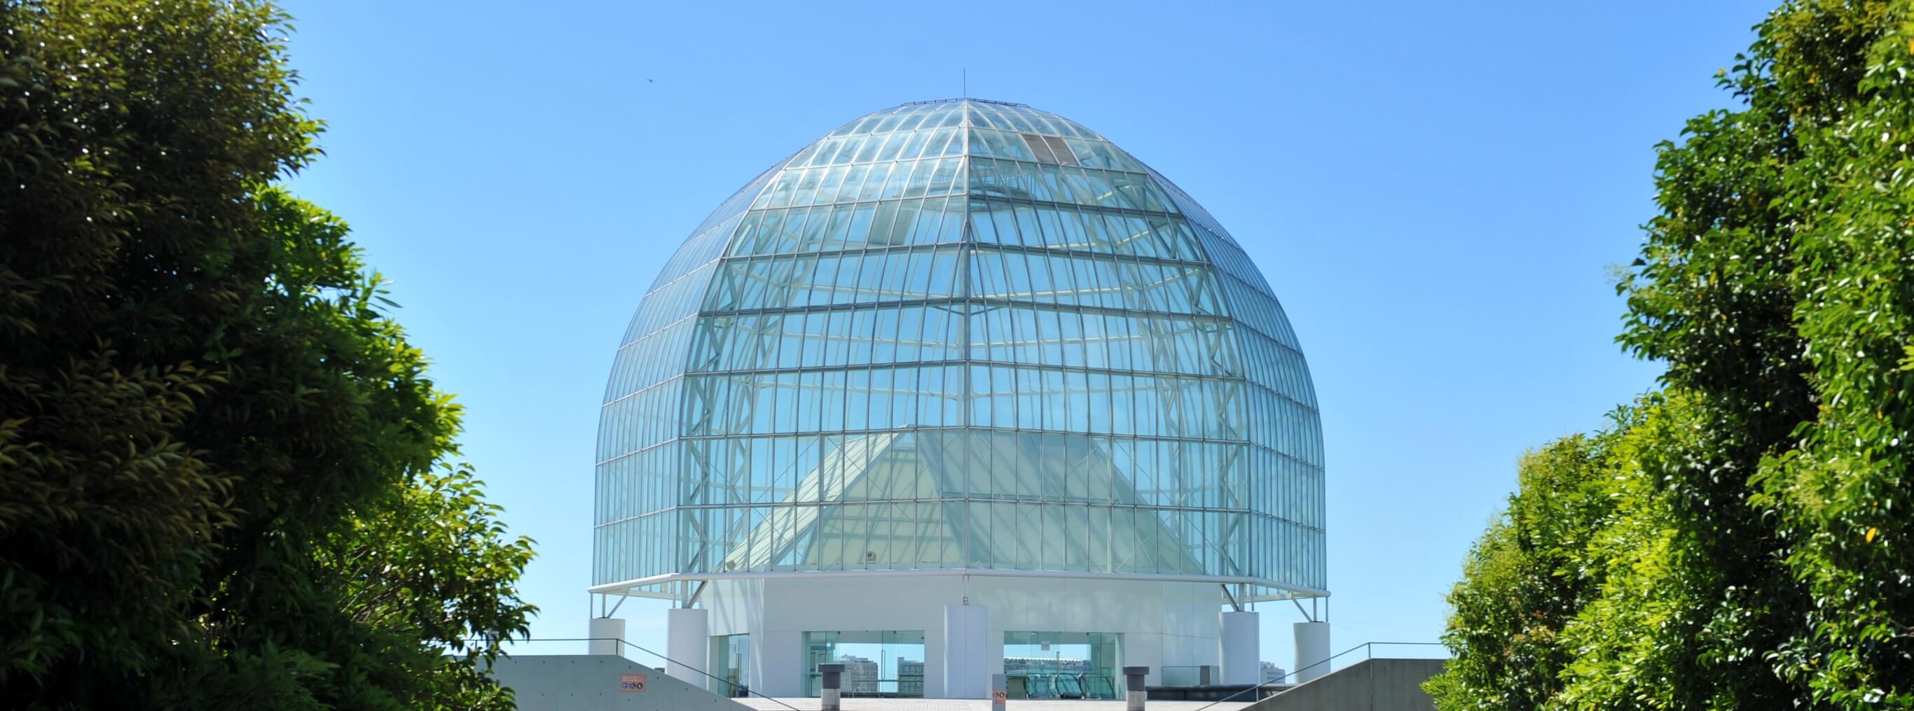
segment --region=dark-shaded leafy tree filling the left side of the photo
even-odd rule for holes
[[[256,0],[0,0],[0,707],[490,707],[523,635],[459,409]]]

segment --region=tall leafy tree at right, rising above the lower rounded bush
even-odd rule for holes
[[[1665,468],[1717,600],[1715,707],[1914,707],[1906,428],[1914,329],[1906,2],[1795,2],[1725,76],[1747,105],[1661,153],[1623,342],[1692,392]],[[1889,541],[1895,537],[1895,541]]]

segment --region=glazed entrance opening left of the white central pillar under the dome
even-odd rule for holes
[[[821,663],[844,665],[844,696],[924,696],[924,631],[804,633],[804,696],[823,696]]]

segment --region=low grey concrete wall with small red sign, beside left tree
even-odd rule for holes
[[[645,675],[645,690],[622,690],[624,675]],[[517,694],[521,711],[748,711],[743,703],[618,656],[500,657],[492,677]]]

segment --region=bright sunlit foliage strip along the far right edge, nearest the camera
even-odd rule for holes
[[[1778,201],[1811,417],[1755,478],[1792,577],[1811,598],[1770,654],[1816,701],[1914,707],[1914,4],[1847,2],[1778,13],[1772,92],[1799,161]]]

